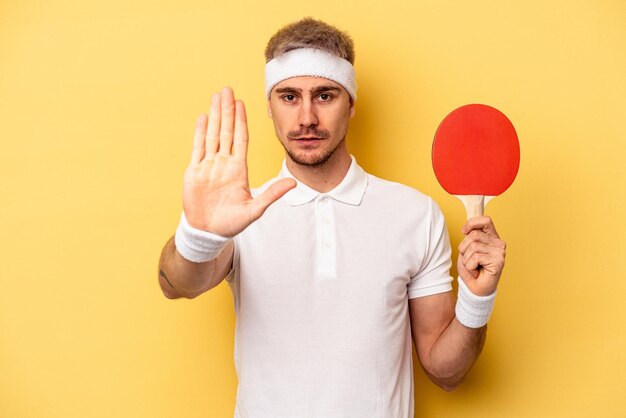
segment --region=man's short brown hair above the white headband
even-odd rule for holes
[[[336,27],[310,17],[279,29],[267,43],[265,62],[298,48],[322,49],[354,65],[352,38]]]

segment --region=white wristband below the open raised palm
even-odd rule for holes
[[[196,229],[187,223],[185,212],[180,217],[176,230],[176,250],[183,258],[194,263],[203,263],[213,260],[226,246],[230,238],[222,237],[211,232]]]

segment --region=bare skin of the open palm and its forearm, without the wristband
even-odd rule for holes
[[[211,97],[209,116],[196,123],[191,162],[183,181],[183,211],[191,230],[232,238],[267,207],[295,187],[282,179],[256,198],[248,183],[248,125],[242,101],[224,88]],[[180,229],[179,229],[180,231]],[[234,245],[228,241],[214,258],[191,261],[172,237],[159,262],[159,284],[168,298],[193,298],[217,286],[228,274]]]

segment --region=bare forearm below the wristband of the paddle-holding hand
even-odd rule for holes
[[[485,344],[487,326],[468,328],[456,318],[433,344],[430,353],[422,359],[430,379],[445,390],[452,390],[463,382],[478,359]]]

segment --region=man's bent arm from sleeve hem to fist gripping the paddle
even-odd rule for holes
[[[457,270],[463,281],[459,286],[466,286],[460,292],[469,295],[460,295],[456,304],[451,292],[409,300],[420,363],[428,377],[448,391],[464,380],[483,348],[483,322],[493,304],[506,249],[489,217],[470,219],[463,233]]]

